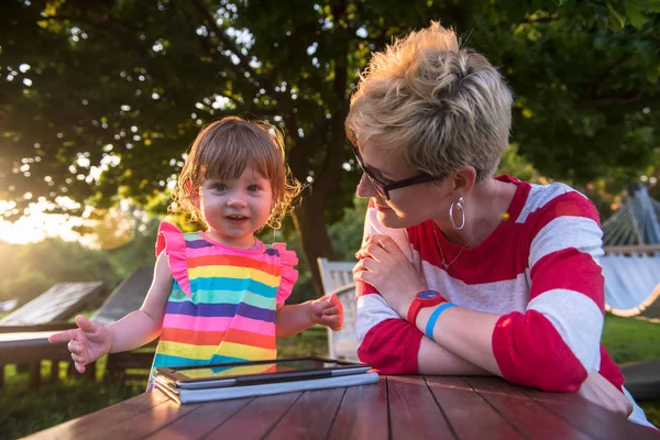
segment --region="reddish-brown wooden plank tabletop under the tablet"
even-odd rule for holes
[[[30,439],[659,439],[574,394],[493,377],[382,376],[377,385],[178,406],[145,393]]]

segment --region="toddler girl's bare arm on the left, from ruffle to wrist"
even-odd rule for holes
[[[108,324],[110,353],[138,349],[161,334],[167,298],[172,292],[172,272],[165,252],[156,260],[154,278],[139,310]]]

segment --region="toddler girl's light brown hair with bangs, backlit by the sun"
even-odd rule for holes
[[[199,208],[193,202],[205,180],[234,179],[246,166],[271,182],[274,207],[266,224],[273,229],[294,209],[302,185],[285,163],[284,138],[274,125],[228,117],[202,128],[190,147],[174,190],[176,211],[190,215],[204,223]]]

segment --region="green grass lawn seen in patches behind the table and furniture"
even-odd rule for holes
[[[660,324],[607,315],[603,343],[617,363],[660,359]],[[277,349],[279,358],[326,355],[327,330],[319,326],[280,339]],[[0,440],[28,436],[99,410],[135,396],[145,387],[145,382],[123,386],[98,381],[105,371],[105,359],[97,364],[97,382],[82,380],[77,373],[66,377],[64,370],[61,369],[61,382],[44,383],[34,393],[28,387],[28,373],[18,373],[13,365],[6,367],[6,386],[0,393]],[[42,362],[42,376],[50,374],[51,363]],[[638,404],[649,420],[660,426],[660,399]]]

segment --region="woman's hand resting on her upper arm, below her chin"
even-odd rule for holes
[[[405,319],[415,295],[428,287],[399,246],[387,235],[371,235],[355,257],[359,262],[353,268],[353,279],[374,286]]]

